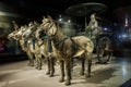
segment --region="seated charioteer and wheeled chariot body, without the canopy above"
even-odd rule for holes
[[[103,29],[96,21],[95,13],[93,13],[85,30],[78,33],[78,35],[90,37],[94,42],[94,53],[96,53],[98,62],[107,63],[112,55],[111,35],[110,33],[105,33]]]

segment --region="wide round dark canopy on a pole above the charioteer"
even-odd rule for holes
[[[66,13],[73,16],[84,16],[85,27],[86,27],[86,16],[93,13],[100,14],[107,10],[107,5],[97,2],[81,3],[76,5],[69,7]]]

